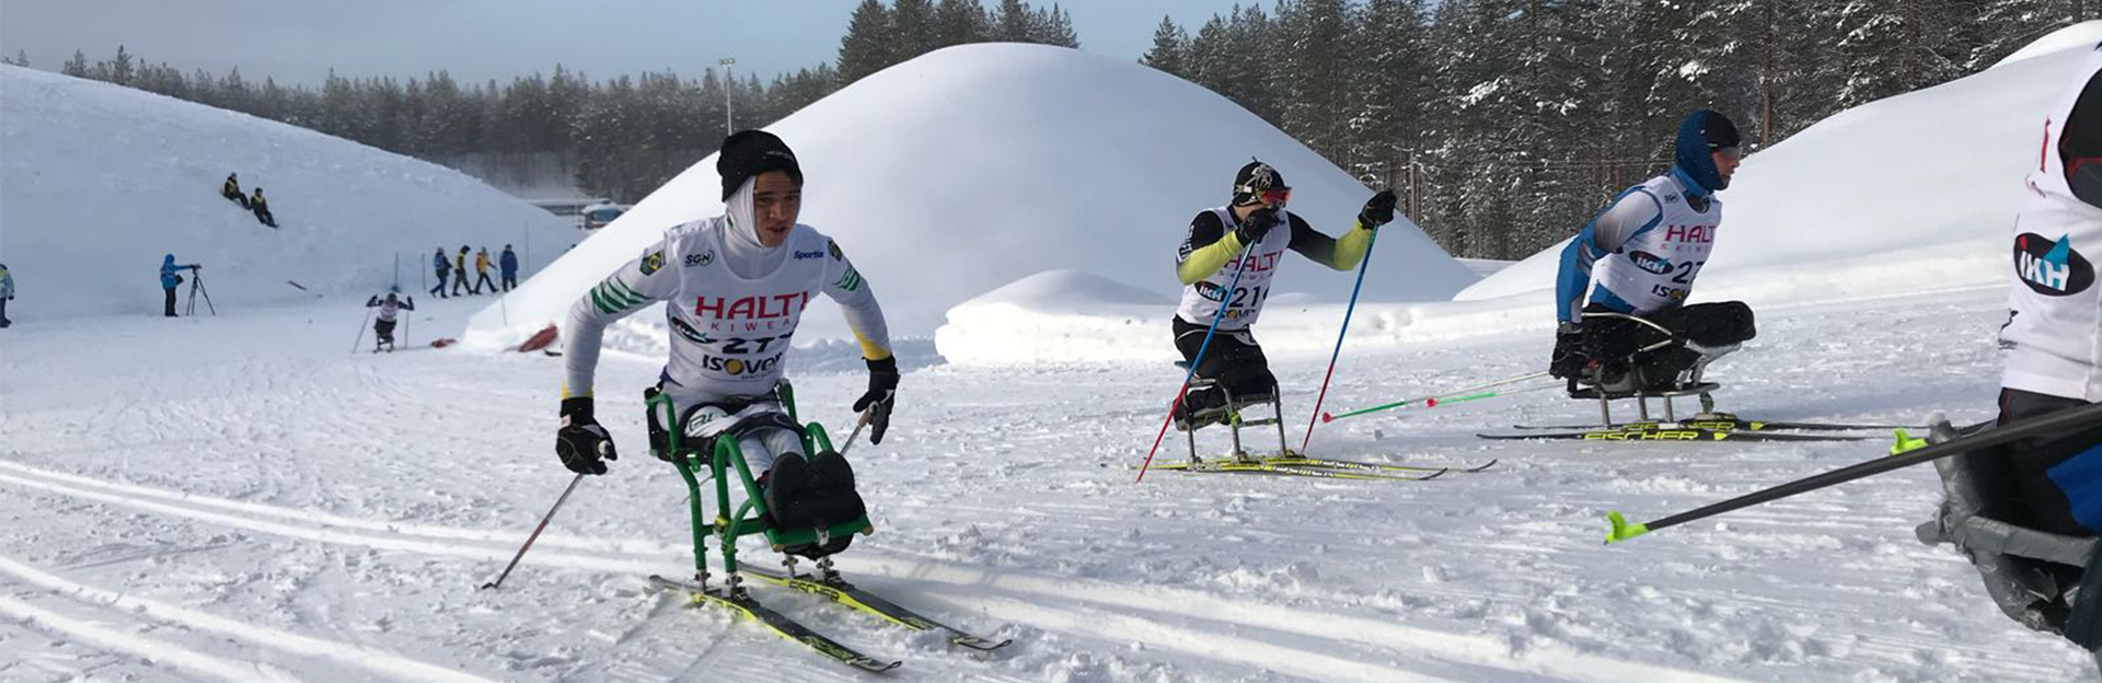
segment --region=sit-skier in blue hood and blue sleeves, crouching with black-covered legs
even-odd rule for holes
[[[1736,164],[1736,126],[1717,111],[1694,111],[1679,124],[1671,170],[1621,191],[1562,250],[1555,351],[1547,366],[1553,376],[1608,397],[1671,391],[1753,338],[1745,303],[1686,305],[1722,225],[1715,191],[1730,187]],[[1600,258],[1606,265],[1593,277]],[[1667,340],[1663,349],[1640,351]]]

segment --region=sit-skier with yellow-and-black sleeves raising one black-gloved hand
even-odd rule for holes
[[[1192,380],[1211,382],[1177,403],[1175,427],[1181,431],[1217,422],[1236,410],[1238,406],[1225,403],[1225,393],[1242,406],[1276,397],[1278,380],[1249,328],[1263,313],[1270,280],[1286,250],[1347,271],[1371,248],[1373,231],[1394,221],[1394,191],[1379,191],[1364,202],[1358,223],[1337,240],[1284,210],[1291,195],[1293,189],[1276,168],[1251,162],[1234,174],[1232,202],[1198,212],[1175,252],[1175,277],[1183,284],[1181,305],[1171,322],[1175,351],[1181,351],[1183,361],[1196,364]],[[1213,319],[1219,330],[1207,347],[1204,332]],[[1200,347],[1202,359],[1196,357]]]

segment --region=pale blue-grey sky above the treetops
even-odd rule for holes
[[[887,2],[887,0],[885,0]],[[1242,0],[1246,2],[1246,0]],[[736,57],[774,76],[832,61],[858,0],[0,0],[0,55],[57,69],[124,44],[149,61],[317,84],[345,76],[509,80],[555,63],[593,76],[700,74]],[[982,0],[996,6],[998,0]],[[1038,2],[1032,2],[1038,4]],[[1154,25],[1225,13],[1232,0],[1062,0],[1091,53],[1137,59]],[[1265,2],[1268,4],[1268,2]],[[1040,2],[1038,6],[1049,6]]]

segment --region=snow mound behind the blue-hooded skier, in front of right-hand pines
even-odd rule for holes
[[[2037,55],[1860,105],[1745,158],[1696,298],[1759,307],[2003,282],[2022,177],[2083,59]],[[1526,294],[1516,303],[1545,322],[1560,254],[1555,244],[1457,298]]]

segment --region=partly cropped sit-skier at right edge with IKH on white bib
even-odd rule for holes
[[[2012,250],[2007,324],[1999,330],[1999,425],[2102,401],[2102,44],[2043,118]],[[2035,156],[2039,145],[2024,145]],[[2005,244],[2005,242],[2003,242]],[[2022,626],[2062,635],[2102,660],[2102,425],[2070,425],[1936,460],[1944,502],[1919,538],[1953,542],[1984,593]]]

